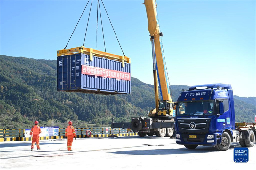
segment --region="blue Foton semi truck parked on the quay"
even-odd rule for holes
[[[235,126],[233,90],[230,84],[206,84],[183,90],[177,100],[176,143],[188,149],[198,145],[228,150],[231,142],[252,147],[255,129]]]

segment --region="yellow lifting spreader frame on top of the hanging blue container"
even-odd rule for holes
[[[78,54],[78,53],[89,54],[91,61],[93,60],[93,55],[94,55],[94,56],[97,56],[97,57],[105,57],[105,58],[108,58],[110,60],[120,61],[120,62],[122,62],[123,67],[124,67],[124,62],[131,63],[131,59],[126,57],[126,56],[110,54],[110,53],[95,50],[95,49],[92,49],[92,48],[86,48],[84,46],[70,48],[70,49],[58,50],[57,51],[57,56],[59,57],[59,56],[63,56],[63,55],[72,55],[72,54]]]

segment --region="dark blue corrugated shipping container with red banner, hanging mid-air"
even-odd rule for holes
[[[60,56],[57,62],[58,91],[106,95],[131,93],[130,63],[122,67],[122,62],[96,56],[91,61],[90,55],[82,53]],[[99,76],[103,73],[104,76]]]

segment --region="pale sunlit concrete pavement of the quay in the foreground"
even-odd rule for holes
[[[256,144],[255,144],[256,145]],[[1,142],[0,169],[255,169],[256,146],[249,148],[249,161],[235,163],[234,147],[217,151],[215,147],[198,146],[188,150],[169,137],[79,138],[67,151],[67,140],[40,141],[41,150],[30,151],[31,142]],[[73,153],[54,157],[33,155]]]

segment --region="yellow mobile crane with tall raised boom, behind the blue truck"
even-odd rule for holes
[[[148,111],[149,118],[132,117],[131,122],[114,123],[112,119],[111,127],[113,128],[131,128],[138,132],[140,137],[146,135],[159,137],[172,136],[174,132],[175,107],[172,102],[169,88],[169,78],[164,58],[164,50],[160,32],[159,22],[156,11],[155,0],[145,0],[143,3],[146,7],[148,17],[148,31],[152,45],[153,58],[153,76],[156,108]],[[159,87],[158,87],[159,84]],[[159,91],[160,89],[160,99]]]

